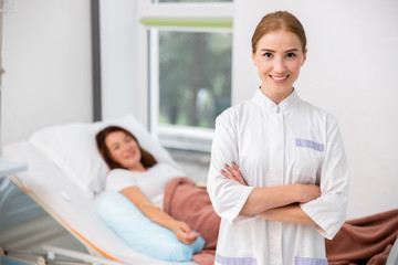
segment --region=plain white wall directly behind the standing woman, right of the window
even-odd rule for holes
[[[250,57],[256,23],[287,10],[306,29],[300,96],[337,117],[352,171],[348,218],[398,208],[398,2],[235,0],[233,103],[259,86]]]

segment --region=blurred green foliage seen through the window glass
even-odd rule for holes
[[[231,33],[159,31],[159,123],[213,128],[231,105]]]

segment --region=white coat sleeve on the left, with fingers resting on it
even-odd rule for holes
[[[235,161],[239,165],[237,120],[231,110],[228,109],[216,119],[207,189],[217,214],[233,224],[240,219],[247,219],[239,216],[239,213],[253,187],[241,186],[220,173],[224,163]]]

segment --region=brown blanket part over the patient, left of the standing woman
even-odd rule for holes
[[[216,214],[209,194],[188,178],[171,180],[165,190],[164,211],[186,222],[206,240],[205,250],[193,255],[201,265],[214,264],[220,216]]]

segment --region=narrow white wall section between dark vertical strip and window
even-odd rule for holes
[[[137,1],[101,0],[102,116],[137,114]]]

